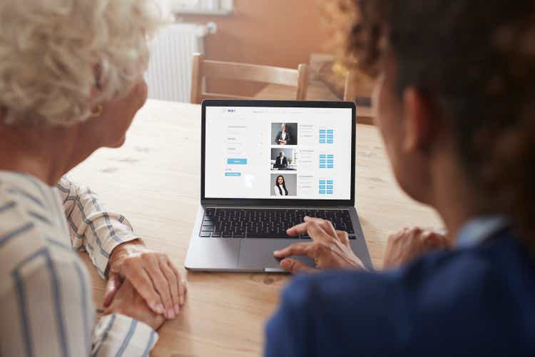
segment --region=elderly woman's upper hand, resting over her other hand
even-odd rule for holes
[[[140,239],[116,246],[109,260],[104,307],[110,306],[127,279],[155,313],[175,318],[184,303],[186,286],[164,253],[151,251]]]

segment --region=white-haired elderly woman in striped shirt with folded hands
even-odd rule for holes
[[[63,175],[118,147],[146,101],[146,0],[0,2],[0,355],[141,356],[185,286],[120,214]],[[108,278],[95,325],[74,251]]]

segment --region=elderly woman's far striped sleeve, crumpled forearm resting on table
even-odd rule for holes
[[[71,243],[75,250],[85,248],[99,275],[105,271],[113,248],[138,238],[131,223],[121,214],[107,211],[96,193],[81,188],[63,176],[56,185],[63,202]]]

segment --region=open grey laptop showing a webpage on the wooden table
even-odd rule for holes
[[[347,231],[372,268],[355,210],[355,129],[352,102],[203,101],[200,205],[185,267],[282,272],[273,251],[311,241],[286,229],[313,216]]]

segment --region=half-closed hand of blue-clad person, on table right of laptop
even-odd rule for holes
[[[418,227],[403,228],[388,237],[383,265],[384,268],[393,268],[431,249],[450,247],[451,242],[442,233]]]

